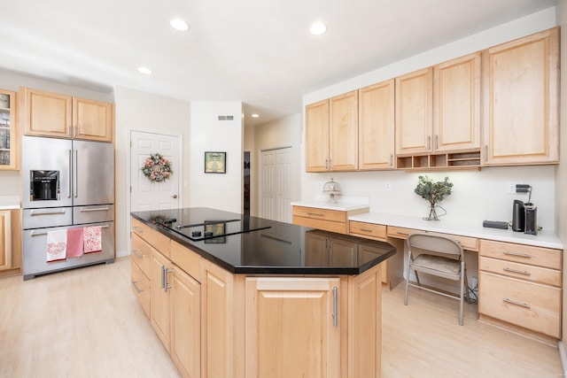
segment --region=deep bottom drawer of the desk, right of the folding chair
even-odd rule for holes
[[[478,313],[561,338],[561,289],[479,272]]]

